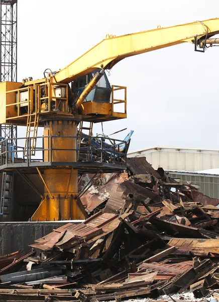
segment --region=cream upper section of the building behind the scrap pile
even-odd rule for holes
[[[128,154],[128,157],[143,156],[154,169],[195,172],[219,168],[219,150],[155,147]]]

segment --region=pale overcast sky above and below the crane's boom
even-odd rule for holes
[[[217,0],[18,0],[18,82],[65,67],[105,38],[219,17]],[[184,43],[122,60],[112,85],[127,86],[128,118],[103,123],[130,150],[155,145],[219,149],[219,47]],[[101,127],[94,128],[94,134]]]

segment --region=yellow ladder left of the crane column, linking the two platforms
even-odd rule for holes
[[[24,156],[27,156],[27,150],[28,150],[28,141],[31,139],[31,145],[30,145],[30,154],[35,155],[36,153],[36,145],[37,145],[37,131],[38,131],[38,125],[39,125],[39,106],[36,104],[35,113],[31,112],[31,101],[28,102],[28,117],[27,117],[27,128],[26,128],[26,139],[25,139],[25,147],[24,147]],[[33,129],[31,129],[33,127]],[[31,136],[32,132],[32,136]]]

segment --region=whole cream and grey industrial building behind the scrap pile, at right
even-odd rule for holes
[[[201,193],[219,198],[219,150],[155,146],[128,157],[146,157],[154,169],[162,167],[183,184],[195,183]]]

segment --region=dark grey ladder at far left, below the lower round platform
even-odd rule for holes
[[[13,177],[12,173],[3,172],[2,193],[0,203],[0,214],[10,214],[12,203],[12,191],[13,191]]]

